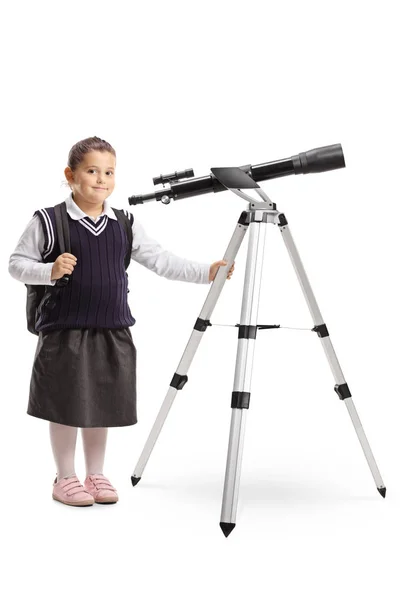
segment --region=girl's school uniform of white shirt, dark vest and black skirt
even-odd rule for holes
[[[128,304],[124,257],[128,239],[109,199],[98,217],[65,200],[71,254],[77,264],[55,306],[40,309],[39,339],[27,413],[74,427],[123,427],[137,423],[135,324]],[[209,283],[209,263],[164,250],[132,213],[131,258],[162,277]],[[55,285],[51,271],[61,254],[54,207],[36,211],[9,261],[9,273],[26,284]]]

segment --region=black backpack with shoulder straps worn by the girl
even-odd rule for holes
[[[113,208],[118,221],[125,227],[128,236],[129,248],[125,255],[125,271],[131,262],[132,251],[132,227],[129,218],[118,208]],[[68,215],[65,202],[61,202],[54,207],[57,238],[60,246],[60,253],[69,252],[71,254],[71,241],[69,236]],[[54,308],[57,302],[57,296],[61,288],[68,285],[71,275],[64,275],[61,279],[57,279],[55,285],[31,285],[25,284],[27,288],[26,298],[26,320],[28,331],[39,335],[35,329],[35,323],[42,308]],[[129,290],[128,290],[129,291]]]

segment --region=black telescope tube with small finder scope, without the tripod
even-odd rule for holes
[[[238,167],[249,175],[253,181],[265,181],[286,175],[306,175],[307,173],[322,173],[345,167],[341,144],[322,146],[308,152],[301,152],[291,158],[261,163],[259,165],[244,165]],[[153,178],[154,185],[167,183],[167,187],[155,190],[150,194],[130,196],[129,204],[144,204],[156,200],[169,204],[172,200],[182,200],[200,194],[226,191],[226,187],[213,173],[205,177],[193,177],[193,169],[175,171],[170,175],[159,175]],[[190,177],[190,179],[189,179]]]

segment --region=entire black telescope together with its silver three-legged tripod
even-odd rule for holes
[[[381,497],[385,498],[386,496],[386,486],[382,480],[378,465],[376,464],[360,417],[358,416],[349,385],[334,350],[330,332],[322,317],[303,262],[294,242],[289,228],[288,218],[277,208],[276,204],[271,201],[257,183],[266,179],[284,177],[285,175],[322,173],[323,171],[341,169],[345,166],[342,147],[340,144],[334,144],[332,146],[323,146],[321,148],[309,150],[308,152],[302,152],[291,158],[254,166],[245,165],[242,167],[212,168],[210,169],[211,174],[206,177],[193,177],[192,169],[175,171],[175,173],[160,175],[153,179],[155,185],[161,183],[166,185],[165,188],[153,191],[151,194],[131,196],[129,198],[129,204],[143,204],[144,202],[150,202],[151,200],[169,204],[171,200],[180,200],[199,194],[229,190],[240,198],[247,200],[249,203],[247,210],[241,211],[241,214],[236,221],[232,237],[223,256],[223,260],[226,264],[225,266],[220,266],[218,272],[214,274],[210,291],[200,314],[193,325],[193,330],[182,358],[170,380],[164,402],[131,476],[132,485],[136,486],[142,478],[143,471],[175,397],[188,382],[187,373],[205,331],[211,326],[218,326],[218,324],[211,322],[211,316],[227,279],[227,273],[235,261],[246,232],[249,231],[240,322],[236,323],[236,325],[232,325],[232,327],[238,327],[238,342],[233,390],[230,398],[231,425],[229,430],[221,517],[219,522],[225,537],[228,537],[236,526],[244,431],[246,413],[249,411],[250,399],[252,398],[251,378],[257,334],[263,330],[261,335],[265,335],[267,330],[279,329],[281,327],[280,325],[260,324],[258,321],[267,225],[274,225],[279,229],[314,324],[314,327],[312,327],[310,331],[312,331],[313,334],[318,335],[331,368],[335,382],[334,391],[339,400],[346,406],[364,452],[364,456],[367,459],[376,488]],[[249,189],[253,189],[253,191],[258,194],[259,198],[255,199],[244,191]],[[268,229],[270,229],[270,227],[268,227]],[[266,365],[264,377],[265,379],[270,377],[268,365]],[[210,389],[205,390],[204,395],[209,398],[213,393],[213,389],[212,382],[207,383],[210,385]],[[257,396],[258,400],[264,400],[265,394],[266,388],[261,387],[256,391],[255,400],[257,401]],[[299,390],[298,399],[299,401],[306,401],[307,389]],[[212,417],[213,404],[214,402],[207,402],[206,405],[201,405],[198,410],[207,410],[210,412],[210,417]],[[310,495],[311,493],[312,491],[310,490]]]

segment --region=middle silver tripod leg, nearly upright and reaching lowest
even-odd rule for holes
[[[257,212],[252,215],[252,217],[254,218],[254,221],[257,221]],[[240,470],[246,421],[245,409],[249,408],[250,403],[253,355],[257,334],[257,314],[266,234],[265,225],[265,222],[252,222],[250,224],[246,276],[243,288],[235,378],[233,384],[234,391],[232,392],[231,401],[232,414],[228,456],[226,461],[220,520],[220,527],[225,537],[228,537],[236,524],[236,509],[239,497]]]

